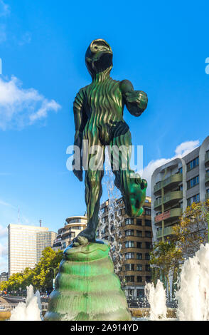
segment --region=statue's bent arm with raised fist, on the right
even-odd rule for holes
[[[141,115],[146,109],[148,102],[146,93],[143,91],[134,91],[132,83],[127,80],[120,82],[120,89],[127,110],[134,116]]]

